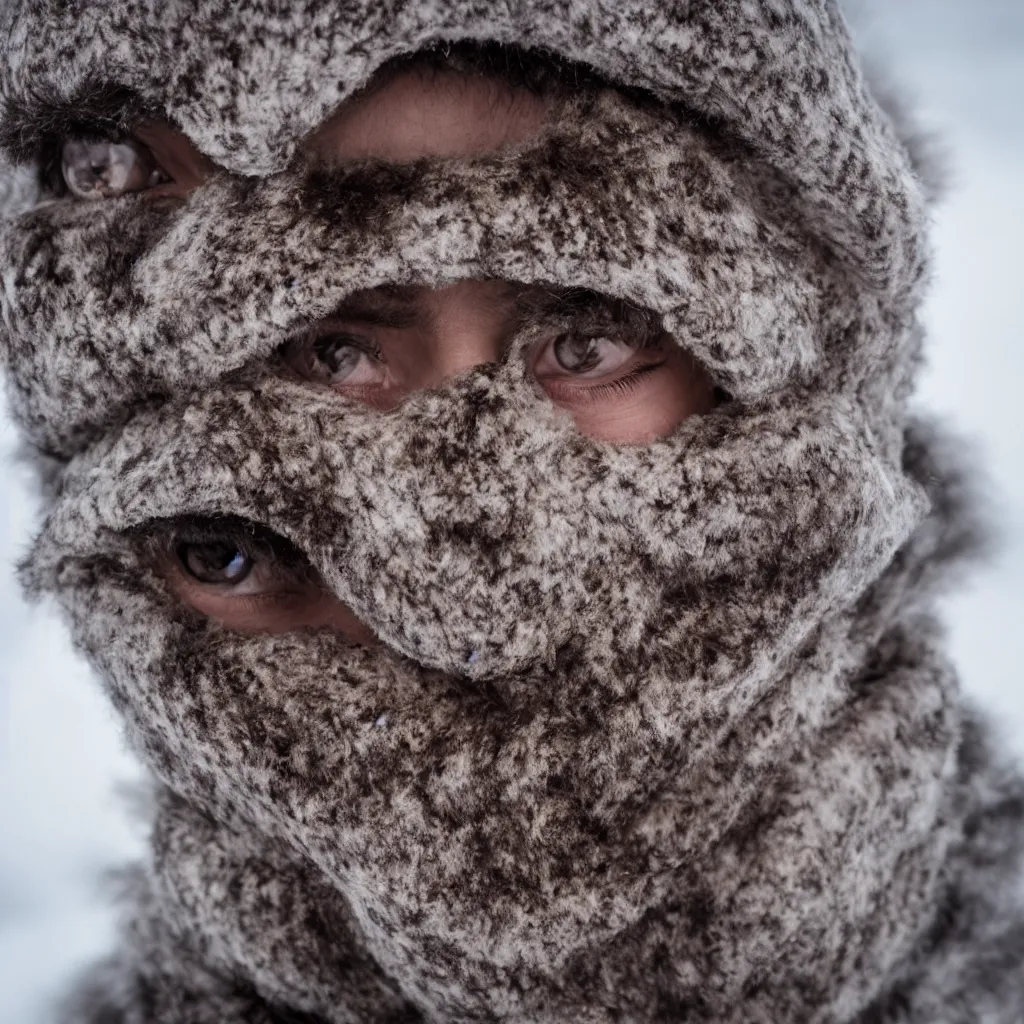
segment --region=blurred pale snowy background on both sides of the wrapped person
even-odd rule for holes
[[[1024,3],[848,7],[862,46],[910,87],[952,155],[921,399],[977,442],[993,481],[1005,551],[947,610],[967,688],[1024,755]],[[33,1024],[48,993],[109,943],[95,879],[138,839],[114,792],[135,769],[113,718],[61,628],[27,608],[13,582],[33,503],[12,447],[0,421],[0,1024]]]

